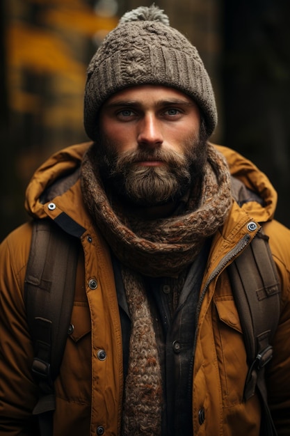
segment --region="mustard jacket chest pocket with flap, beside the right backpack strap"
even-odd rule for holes
[[[223,406],[242,403],[245,377],[248,371],[245,345],[239,313],[232,296],[214,301],[214,338],[220,373]]]

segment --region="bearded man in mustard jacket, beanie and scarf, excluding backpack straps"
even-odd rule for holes
[[[1,435],[289,433],[290,232],[273,219],[268,178],[209,142],[216,123],[191,42],[156,6],[125,14],[88,67],[91,141],[36,171],[33,220],[1,244]],[[40,426],[35,416],[49,410],[38,403],[24,304],[35,220],[79,249],[55,410]],[[228,274],[261,227],[282,295],[266,430],[259,391],[244,396],[245,332]]]

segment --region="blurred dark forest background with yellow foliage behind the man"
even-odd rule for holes
[[[152,0],[2,0],[0,240],[28,218],[25,188],[56,150],[86,141],[86,67],[119,17]],[[213,141],[252,159],[290,227],[289,0],[159,0],[193,42],[214,84]]]

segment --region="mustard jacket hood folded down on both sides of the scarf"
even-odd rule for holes
[[[29,215],[35,218],[47,217],[44,205],[55,198],[58,198],[58,203],[65,212],[67,209],[72,209],[70,212],[74,210],[70,205],[73,199],[79,205],[80,198],[74,198],[76,193],[73,192],[80,188],[73,187],[79,186],[81,161],[91,144],[92,142],[86,142],[65,148],[49,157],[35,171],[26,189],[25,207]],[[227,159],[232,175],[232,194],[240,207],[259,222],[273,219],[277,193],[268,177],[236,151],[224,146],[216,148]]]

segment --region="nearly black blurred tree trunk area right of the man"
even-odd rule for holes
[[[289,2],[225,0],[224,12],[225,145],[267,174],[290,226]]]

